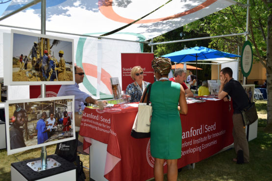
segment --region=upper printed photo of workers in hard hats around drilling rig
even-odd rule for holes
[[[12,81],[73,81],[73,42],[39,36],[13,33]]]

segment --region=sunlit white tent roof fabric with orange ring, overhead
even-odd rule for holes
[[[12,0],[2,16],[31,1]],[[146,41],[236,3],[233,0],[168,1],[47,0],[46,30],[99,36],[140,19],[106,37]],[[40,29],[41,3],[0,21],[0,25]]]

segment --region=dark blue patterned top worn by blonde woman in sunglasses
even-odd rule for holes
[[[148,84],[150,83],[143,81],[144,90],[147,88]],[[129,102],[140,102],[143,92],[144,91],[140,88],[140,86],[134,85],[134,82],[128,84],[125,90],[125,94],[130,95]]]

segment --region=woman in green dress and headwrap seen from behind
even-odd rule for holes
[[[150,102],[152,118],[150,124],[150,151],[155,158],[154,178],[163,181],[163,164],[168,164],[168,181],[177,179],[177,159],[181,158],[181,121],[179,113],[187,114],[188,108],[183,87],[169,81],[171,61],[159,57],[152,60],[157,82],[151,87]],[[147,97],[144,102],[146,102]],[[179,104],[179,106],[178,106]]]

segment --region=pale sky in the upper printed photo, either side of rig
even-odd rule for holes
[[[56,37],[57,39],[57,37]],[[13,57],[19,57],[21,54],[24,56],[29,54],[30,50],[32,49],[32,46],[34,45],[34,42],[38,42],[38,37],[35,36],[29,36],[29,35],[23,35],[23,34],[13,34],[13,51],[12,56]],[[50,39],[50,44],[53,42],[53,39]],[[55,56],[55,58],[59,61],[60,57],[58,56],[59,50],[63,50],[63,58],[65,59],[65,62],[72,62],[72,42],[68,41],[60,41],[59,44],[54,45],[51,48],[52,55]],[[30,55],[31,58],[31,55]]]

